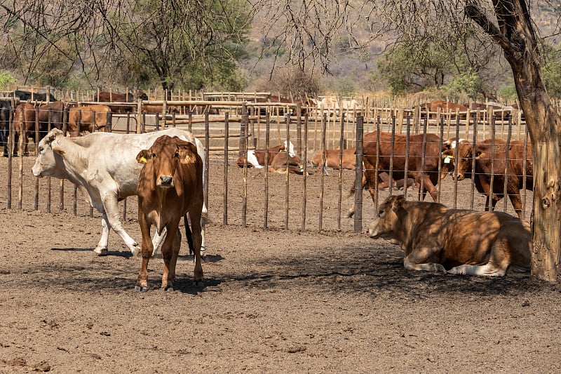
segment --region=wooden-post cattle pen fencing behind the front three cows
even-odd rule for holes
[[[191,131],[205,144],[205,201],[212,222],[243,227],[357,232],[374,217],[376,203],[384,196],[406,194],[407,199],[419,199],[416,189],[407,187],[407,184],[404,190],[393,185],[386,189],[375,187],[373,196],[376,201],[372,206],[368,194],[349,195],[353,187],[358,190],[363,188],[360,185],[360,165],[356,170],[339,168],[323,173],[307,162],[323,149],[360,148],[363,133],[384,131],[407,136],[434,133],[442,143],[450,138],[464,138],[473,145],[484,139],[511,142],[527,140],[528,136],[522,114],[513,110],[508,113],[496,109],[430,112],[420,107],[396,109],[361,105],[336,111],[320,107],[304,108],[293,103],[217,100],[148,103],[152,107],[161,107],[162,112],[143,112],[142,102],[137,102],[136,112],[114,114],[107,126],[98,131],[142,133],[176,126]],[[188,114],[169,114],[165,113],[166,107],[188,107],[190,111]],[[198,112],[196,108],[203,108],[200,111],[202,114],[194,114]],[[13,142],[12,127],[9,133],[8,141]],[[36,144],[39,139],[39,129],[36,128],[32,142]],[[294,144],[297,156],[305,161],[304,175],[279,175],[266,173],[264,169],[236,166],[236,158],[248,150],[273,147],[283,142]],[[392,156],[400,157],[398,154]],[[360,157],[362,154],[358,149],[357,158]],[[528,158],[531,159],[531,152],[525,153],[525,159]],[[6,208],[46,213],[71,210],[75,215],[92,217],[97,214],[83,203],[76,187],[62,180],[34,178],[30,173],[33,162],[33,154],[17,158],[10,155],[2,160],[6,182],[0,192],[1,203]],[[444,162],[442,159],[441,166]],[[388,168],[386,172],[391,174],[393,171]],[[485,196],[475,190],[473,179],[458,181],[449,176],[440,180],[437,188],[437,201],[447,206],[485,209]],[[532,201],[531,192],[522,188],[520,194],[522,215],[528,219],[531,204],[527,201]],[[126,199],[121,207],[123,218],[134,219],[135,204],[128,204],[127,200],[130,199]],[[428,200],[431,198],[428,197]],[[500,201],[496,209],[514,214],[507,200]],[[358,211],[351,220],[347,215],[355,203]]]

